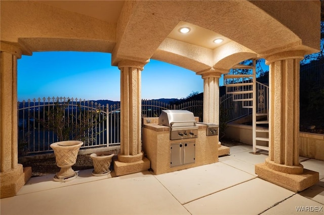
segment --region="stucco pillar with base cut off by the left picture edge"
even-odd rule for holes
[[[18,164],[17,59],[21,50],[1,42],[0,71],[0,177],[1,198],[16,195],[31,177],[31,168]]]

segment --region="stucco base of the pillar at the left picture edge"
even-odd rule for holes
[[[31,177],[31,167],[23,168],[18,164],[16,169],[9,172],[0,173],[1,176],[1,195],[0,198],[15,196],[20,188]]]

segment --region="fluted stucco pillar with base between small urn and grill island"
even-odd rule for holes
[[[120,153],[114,162],[117,176],[150,168],[141,139],[141,71],[144,63],[120,61]]]

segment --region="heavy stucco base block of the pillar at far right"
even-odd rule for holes
[[[266,163],[255,165],[255,174],[273,184],[279,185],[294,192],[305,190],[316,184],[319,179],[317,172],[304,169],[302,174],[288,174],[270,169]]]

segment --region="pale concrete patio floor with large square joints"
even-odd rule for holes
[[[1,199],[1,214],[324,213],[324,161],[300,157],[320,181],[295,193],[258,178],[254,165],[267,155],[251,151],[250,145],[232,146],[219,163],[157,176],[94,177],[91,169],[65,183],[54,182],[54,175],[31,178],[16,196]]]

